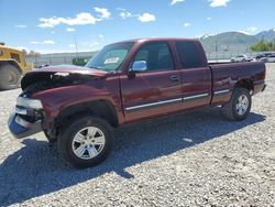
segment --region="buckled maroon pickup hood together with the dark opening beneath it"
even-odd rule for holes
[[[38,85],[42,90],[101,79],[107,74],[108,72],[74,65],[48,66],[26,73],[21,80],[21,87],[25,90],[29,86],[37,88]]]

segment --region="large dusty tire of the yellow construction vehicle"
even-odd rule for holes
[[[11,64],[0,66],[0,89],[9,90],[19,87],[21,73]]]

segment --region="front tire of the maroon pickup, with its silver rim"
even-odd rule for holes
[[[109,123],[86,116],[66,126],[57,138],[57,150],[69,165],[86,168],[105,161],[111,152],[113,132]]]

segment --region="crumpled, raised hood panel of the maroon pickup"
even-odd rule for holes
[[[53,75],[70,76],[74,79],[87,79],[87,78],[103,78],[108,72],[74,66],[74,65],[57,65],[43,68],[35,68],[25,74],[21,80],[21,87],[24,90],[28,86],[35,83],[51,83]]]

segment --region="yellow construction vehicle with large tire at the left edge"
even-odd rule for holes
[[[32,64],[26,63],[23,51],[0,43],[0,89],[16,88],[21,76],[32,67]]]

